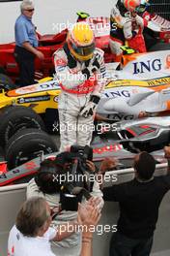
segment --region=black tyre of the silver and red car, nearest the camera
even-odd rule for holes
[[[20,166],[42,154],[58,151],[51,137],[38,129],[24,129],[17,132],[6,146],[6,161],[9,170]]]

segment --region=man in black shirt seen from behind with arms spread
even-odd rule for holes
[[[170,146],[165,146],[164,151],[170,159]],[[136,155],[133,168],[134,179],[102,190],[105,201],[120,204],[118,231],[110,241],[110,256],[150,255],[158,208],[170,189],[170,168],[166,176],[154,176],[156,161],[149,153]]]

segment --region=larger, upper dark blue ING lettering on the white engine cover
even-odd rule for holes
[[[154,60],[147,60],[145,62],[133,62],[133,75],[143,74],[152,71],[161,70],[161,60],[159,58]]]

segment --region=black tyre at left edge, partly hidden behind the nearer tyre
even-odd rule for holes
[[[41,116],[28,107],[8,106],[0,112],[0,145],[5,146],[19,130],[37,128],[45,130]]]

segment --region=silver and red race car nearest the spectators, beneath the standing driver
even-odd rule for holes
[[[99,165],[105,157],[115,157],[119,160],[117,168],[125,169],[131,167],[136,152],[146,150],[152,152],[156,163],[165,163],[164,153],[158,149],[169,144],[169,125],[170,117],[146,118],[111,125],[102,124],[91,144],[93,160]],[[46,148],[42,150],[43,139],[45,139]],[[50,138],[49,141],[51,141]],[[55,146],[49,143],[47,146],[47,143],[47,135],[37,129],[25,129],[14,135],[6,150],[6,161],[11,171],[8,171],[6,163],[1,163],[0,186],[28,181],[37,173],[42,159],[54,159],[57,152],[49,153],[49,151],[55,151]],[[42,154],[43,152],[45,155]]]

